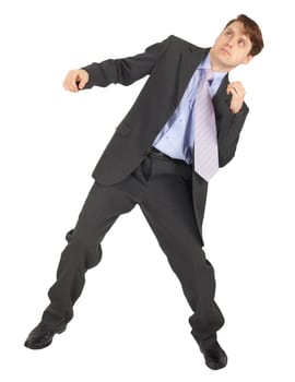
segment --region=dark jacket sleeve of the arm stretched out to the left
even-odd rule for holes
[[[144,52],[126,58],[108,59],[82,67],[90,79],[84,88],[93,86],[108,86],[109,84],[130,85],[150,74],[155,63],[167,49],[173,35],[161,43],[149,46]]]

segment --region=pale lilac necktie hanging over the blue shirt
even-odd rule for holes
[[[211,75],[210,69],[202,70],[197,89],[194,115],[194,170],[206,181],[219,169],[215,114],[208,86]]]

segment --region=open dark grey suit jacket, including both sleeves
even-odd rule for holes
[[[111,83],[130,85],[149,74],[92,172],[97,182],[108,186],[121,181],[146,157],[157,133],[173,115],[194,70],[209,50],[170,35],[137,56],[93,62],[82,68],[90,75],[84,88],[94,85],[105,87]],[[228,75],[213,97],[220,167],[224,167],[235,155],[239,133],[249,111],[245,103],[238,114],[231,111],[227,85]],[[206,192],[208,182],[192,166],[193,210],[202,244]]]

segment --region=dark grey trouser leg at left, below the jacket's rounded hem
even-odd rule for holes
[[[48,291],[50,305],[42,321],[51,327],[63,326],[73,317],[73,305],[85,284],[85,272],[102,259],[101,242],[120,214],[133,208],[140,193],[140,168],[115,186],[94,182],[76,225],[68,231],[57,270],[57,279]]]

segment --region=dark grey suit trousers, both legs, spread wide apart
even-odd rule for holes
[[[48,291],[50,305],[43,322],[60,329],[73,318],[85,273],[102,260],[102,240],[116,219],[138,204],[193,311],[188,319],[192,336],[208,346],[216,339],[224,318],[214,301],[214,270],[200,242],[191,171],[184,160],[150,152],[122,181],[111,186],[94,181],[74,228],[66,235],[68,244]]]

